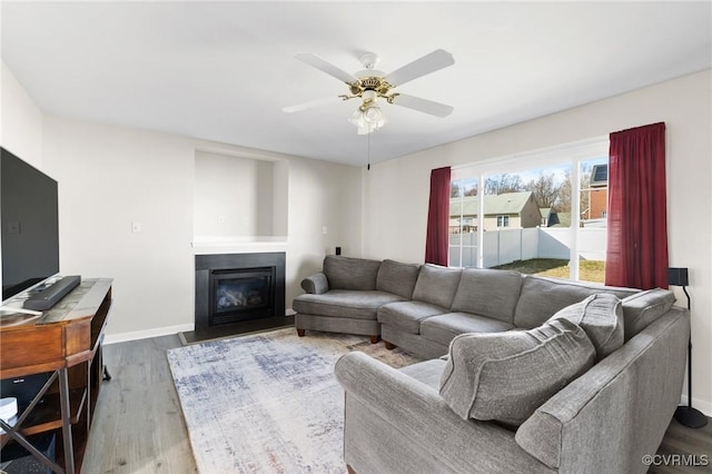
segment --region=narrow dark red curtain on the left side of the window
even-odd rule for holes
[[[431,171],[425,263],[447,266],[449,230],[449,166]]]

